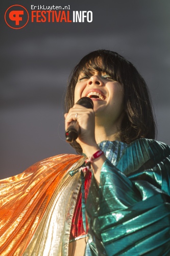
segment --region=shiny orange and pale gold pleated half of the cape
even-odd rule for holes
[[[59,155],[0,182],[0,255],[67,255],[84,157]]]

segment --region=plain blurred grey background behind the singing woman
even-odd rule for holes
[[[5,1],[4,1],[5,2]],[[92,11],[91,23],[32,23],[7,26],[14,4],[70,6]],[[70,17],[71,18],[71,17]],[[158,125],[157,140],[170,145],[169,0],[6,1],[1,4],[0,178],[23,172],[41,159],[75,154],[65,142],[63,103],[71,70],[97,49],[130,60],[150,89]]]

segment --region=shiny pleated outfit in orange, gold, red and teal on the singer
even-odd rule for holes
[[[100,186],[91,180],[85,255],[169,255],[169,147],[139,139],[129,145],[103,141],[100,148],[108,160]],[[68,255],[71,228],[73,237],[84,232],[76,231],[81,177],[69,172],[84,160],[51,157],[0,182],[0,255]]]

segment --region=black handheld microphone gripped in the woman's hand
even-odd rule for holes
[[[85,106],[85,108],[87,109],[93,109],[93,106],[94,106],[92,99],[90,99],[89,97],[82,97],[81,99],[78,100],[78,102],[76,102],[76,104]],[[68,143],[74,142],[74,140],[78,138],[79,134],[80,134],[79,123],[77,121],[71,121],[69,123],[67,130],[65,131],[66,141]]]

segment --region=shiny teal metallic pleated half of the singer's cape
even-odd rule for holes
[[[170,255],[170,147],[104,141],[100,186],[92,177],[85,255]]]

